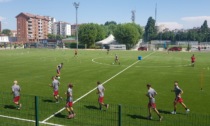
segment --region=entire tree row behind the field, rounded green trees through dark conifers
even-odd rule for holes
[[[206,20],[201,27],[188,30],[170,31],[164,29],[159,31],[155,24],[156,21],[149,17],[144,32],[143,28],[135,23],[117,24],[110,21],[104,25],[83,24],[79,27],[79,42],[91,47],[94,46],[95,42],[104,39],[109,34],[113,34],[115,40],[120,44],[125,44],[128,49],[136,45],[141,38],[143,38],[144,42],[150,42],[151,40],[210,42],[210,28]]]

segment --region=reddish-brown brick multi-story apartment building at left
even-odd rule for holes
[[[37,42],[48,38],[49,19],[46,16],[20,13],[16,18],[18,42]]]

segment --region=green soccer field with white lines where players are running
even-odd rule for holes
[[[113,64],[115,54],[119,56],[120,65]],[[192,54],[196,57],[195,67],[190,66]],[[138,60],[139,56],[142,60]],[[56,75],[56,66],[61,62],[64,66],[59,94],[65,98],[68,83],[73,83],[77,114],[74,119],[66,118],[65,100],[56,104],[49,87],[51,77]],[[39,97],[40,125],[116,126],[119,104],[122,107],[122,125],[125,126],[210,124],[207,118],[210,113],[210,59],[207,52],[111,50],[107,54],[105,50],[79,50],[78,56],[74,57],[74,50],[0,50],[0,69],[0,122],[4,121],[6,125],[34,125],[34,96]],[[21,110],[13,107],[11,86],[14,80],[22,89]],[[97,81],[101,81],[106,89],[104,100],[110,104],[106,111],[98,110]],[[173,111],[174,93],[171,90],[174,81],[178,81],[184,91],[182,98],[191,110],[187,115],[181,105],[178,105],[176,115],[170,114]],[[153,120],[146,120],[147,83],[151,83],[158,93],[157,109],[164,117],[161,123],[155,113],[152,113]]]

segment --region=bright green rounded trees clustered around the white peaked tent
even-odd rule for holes
[[[78,39],[81,44],[93,47],[95,42],[103,40],[110,34],[115,36],[117,42],[125,44],[130,49],[142,38],[143,28],[135,23],[117,24],[114,21],[106,22],[104,25],[82,24],[78,30]]]

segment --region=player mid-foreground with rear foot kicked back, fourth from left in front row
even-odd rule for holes
[[[109,104],[104,103],[105,88],[99,81],[97,82],[97,85],[98,85],[97,86],[97,94],[99,95],[99,97],[98,97],[99,109],[102,110],[102,106],[105,106],[108,109]]]

